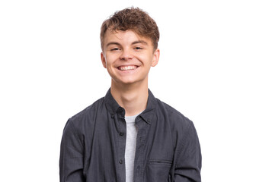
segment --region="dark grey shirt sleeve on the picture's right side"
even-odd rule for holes
[[[191,122],[178,150],[174,168],[175,182],[201,182],[202,156],[197,131]]]

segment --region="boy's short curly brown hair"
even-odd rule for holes
[[[158,48],[159,30],[152,17],[139,8],[125,8],[116,11],[101,25],[101,49],[103,50],[103,39],[107,30],[111,32],[133,30],[139,36],[152,40],[154,49]]]

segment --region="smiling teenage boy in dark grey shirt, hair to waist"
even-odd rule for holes
[[[155,20],[139,8],[117,11],[101,26],[106,96],[69,119],[62,136],[61,182],[200,180],[194,124],[148,89],[158,64]]]

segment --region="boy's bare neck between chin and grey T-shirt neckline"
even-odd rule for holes
[[[125,109],[126,116],[137,115],[146,109],[149,97],[148,83],[120,85],[112,80],[110,92],[117,103]]]

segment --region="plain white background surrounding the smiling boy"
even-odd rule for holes
[[[255,180],[254,1],[3,0],[1,181],[59,181],[66,121],[110,86],[101,23],[132,5],[158,24],[161,56],[149,88],[194,121],[203,181]]]

